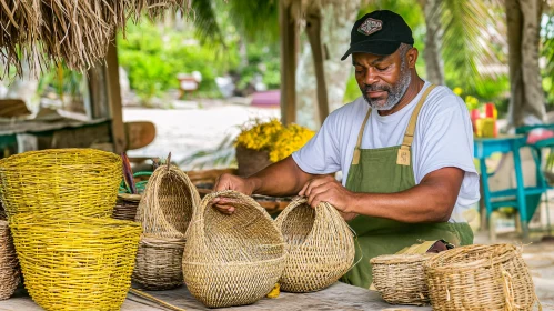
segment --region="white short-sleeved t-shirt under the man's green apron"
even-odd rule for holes
[[[412,111],[429,86],[431,83],[425,82],[412,102],[393,114],[380,116],[373,111],[361,148],[402,144]],[[292,154],[296,164],[312,174],[342,171],[345,185],[360,127],[369,108],[360,97],[333,111],[320,131]],[[423,103],[412,143],[412,161],[416,183],[441,168],[455,167],[465,171],[450,219],[451,222],[465,222],[463,212],[480,199],[479,174],[473,163],[473,131],[465,103],[446,87],[436,87]]]

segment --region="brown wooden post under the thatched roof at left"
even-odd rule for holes
[[[108,82],[108,99],[112,119],[112,137],[115,153],[127,150],[125,128],[123,124],[123,106],[121,103],[121,88],[119,86],[118,46],[115,38],[108,49],[105,57],[105,73]]]

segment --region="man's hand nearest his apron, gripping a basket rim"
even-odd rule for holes
[[[355,201],[355,192],[344,188],[336,179],[330,175],[318,177],[305,183],[299,195],[308,198],[308,204],[315,208],[321,202],[328,202],[335,207],[346,220],[353,219],[352,204]]]

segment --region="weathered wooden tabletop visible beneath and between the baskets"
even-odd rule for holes
[[[175,307],[189,310],[213,310],[203,307],[182,287],[170,291],[148,292],[158,299],[169,302]],[[39,311],[38,307],[24,290],[19,291],[9,300],[0,301],[1,311]],[[169,310],[149,302],[133,294],[127,297],[122,311],[154,311]],[[243,311],[265,311],[265,310],[285,310],[285,311],[309,311],[309,310],[420,310],[429,311],[431,307],[411,307],[411,305],[391,305],[384,302],[379,293],[344,283],[335,283],[332,287],[312,293],[284,293],[278,299],[262,299],[251,305],[223,308],[216,310],[243,310]]]

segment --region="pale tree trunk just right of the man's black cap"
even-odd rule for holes
[[[425,59],[426,79],[434,84],[444,84],[444,63],[441,56],[441,20],[436,13],[439,0],[420,0],[425,16]]]

